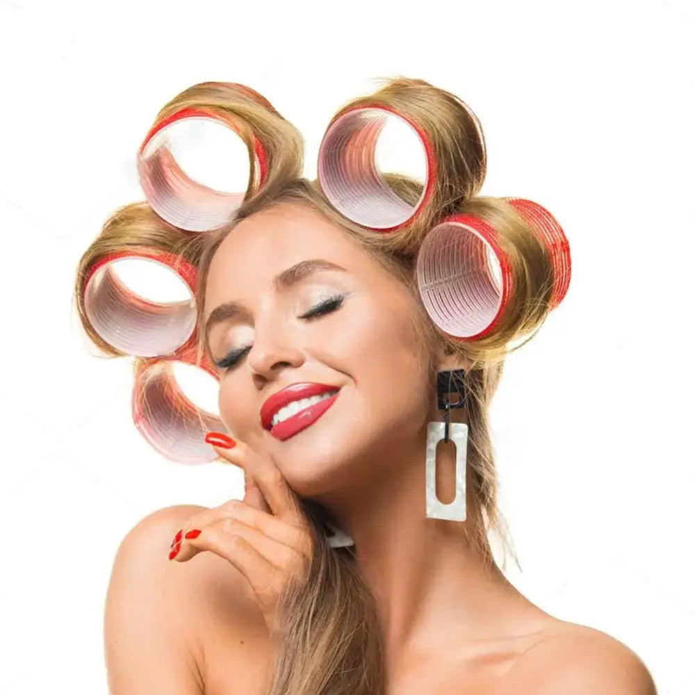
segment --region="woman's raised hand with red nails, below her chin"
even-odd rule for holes
[[[270,457],[256,454],[243,442],[231,449],[213,448],[243,468],[244,499],[228,500],[190,517],[172,541],[170,559],[187,562],[210,550],[233,564],[251,584],[272,633],[281,588],[288,580],[304,580],[308,573],[311,525]]]

